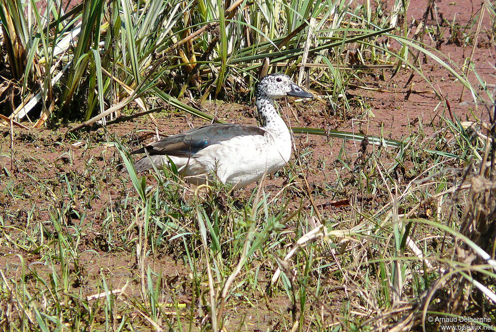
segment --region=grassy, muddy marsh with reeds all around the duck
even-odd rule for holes
[[[89,38],[42,62],[67,35],[54,22],[59,39],[39,36],[47,49],[24,40],[36,48],[27,62],[0,48],[5,331],[495,331],[494,68],[481,65],[491,2],[457,15],[457,3],[335,3],[331,15],[304,1],[316,18],[298,1],[204,2],[203,16],[184,1],[124,2],[69,9],[109,6],[87,27],[101,49]],[[156,31],[153,5],[177,5]],[[126,151],[158,129],[252,121],[251,86],[267,71],[320,96],[281,102],[296,147],[283,171],[235,192],[133,173]],[[23,72],[32,78],[14,79]],[[72,85],[49,83],[59,72]],[[32,100],[38,109],[21,111]],[[75,109],[93,122],[64,124]]]

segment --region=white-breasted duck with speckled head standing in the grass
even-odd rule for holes
[[[153,165],[170,167],[193,185],[218,179],[242,188],[282,169],[292,152],[291,133],[274,101],[285,96],[313,98],[283,73],[265,75],[255,86],[260,127],[208,124],[143,146],[131,154],[146,155],[134,163],[136,172]]]

